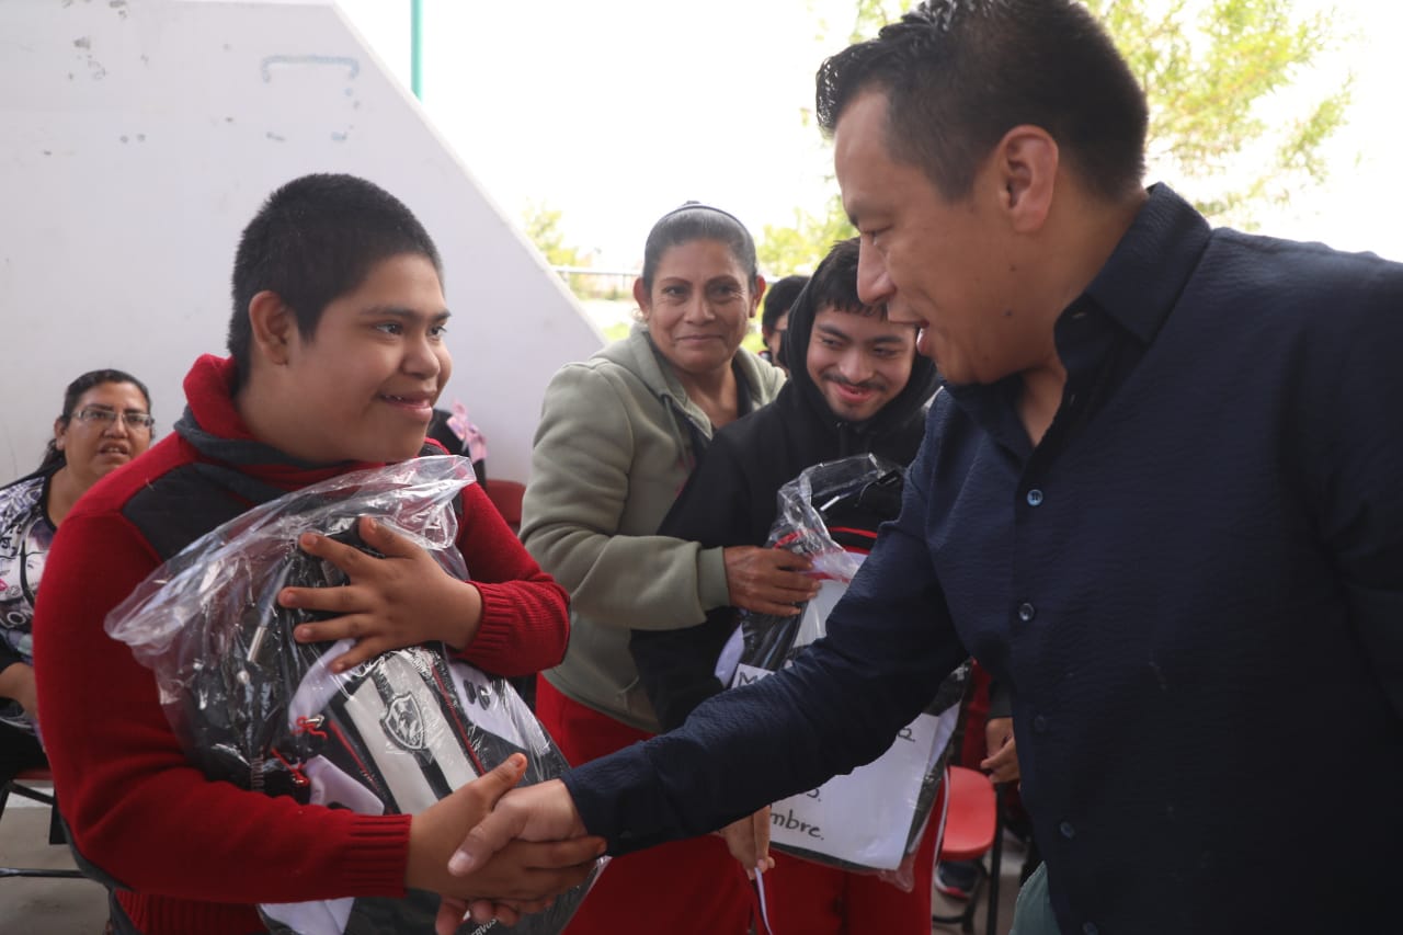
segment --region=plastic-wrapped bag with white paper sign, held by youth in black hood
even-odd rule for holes
[[[767,545],[808,556],[819,592],[797,616],[742,611],[739,640],[718,664],[723,682],[739,685],[780,671],[825,635],[828,615],[875,541],[877,526],[899,512],[901,489],[902,472],[874,455],[815,465],[780,489]],[[846,870],[875,872],[909,890],[912,855],[953,751],[967,684],[968,665],[961,665],[877,761],[774,803],[773,847]]]

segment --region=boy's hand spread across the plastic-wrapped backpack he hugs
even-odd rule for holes
[[[299,623],[299,643],[352,639],[355,644],[333,663],[344,672],[368,658],[404,646],[442,640],[453,649],[473,642],[483,619],[483,595],[469,581],[452,577],[428,552],[369,517],[361,518],[361,538],[383,555],[314,532],[303,533],[303,552],[345,571],[338,588],[283,588],[278,602],[333,614],[330,619]]]

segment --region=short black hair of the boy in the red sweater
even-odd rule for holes
[[[365,282],[380,261],[403,254],[429,260],[443,279],[438,247],[404,202],[355,175],[313,174],[276,190],[244,227],[234,253],[229,352],[236,387],[248,378],[253,327],[248,303],[275,292],[311,337],[327,305]]]

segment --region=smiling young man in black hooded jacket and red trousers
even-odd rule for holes
[[[884,306],[857,298],[857,239],[843,240],[818,265],[790,310],[788,382],[769,406],[716,434],[658,535],[704,548],[763,546],[776,494],[805,468],[867,452],[905,468],[915,456],[936,366],[916,354],[915,327],[890,321]],[[633,632],[630,649],[665,730],[723,689],[713,670],[737,625],[735,608],[717,608],[689,629]],[[767,820],[762,813],[759,821]],[[933,845],[927,834],[911,893],[790,858],[766,875],[767,898],[794,931],[850,931],[845,921],[856,920],[868,931],[925,934]]]

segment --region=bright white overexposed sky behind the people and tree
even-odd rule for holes
[[[407,87],[410,0],[338,3]],[[1345,56],[1357,77],[1351,122],[1330,147],[1330,183],[1264,216],[1263,233],[1403,260],[1389,161],[1403,4],[1334,6],[1340,32],[1358,37]],[[756,234],[790,223],[797,206],[822,211],[836,184],[807,121],[814,72],[846,44],[850,7],[424,0],[422,102],[508,216],[544,202],[563,212],[567,241],[599,251],[596,265],[634,268],[652,222],[687,198],[727,208]]]

